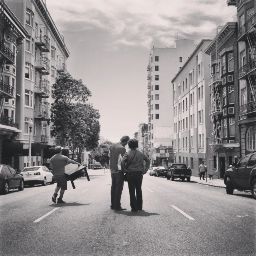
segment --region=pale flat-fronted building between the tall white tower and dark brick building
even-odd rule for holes
[[[174,162],[184,163],[197,176],[198,167],[206,159],[206,138],[211,125],[208,111],[210,57],[204,53],[211,40],[202,40],[172,79]]]

